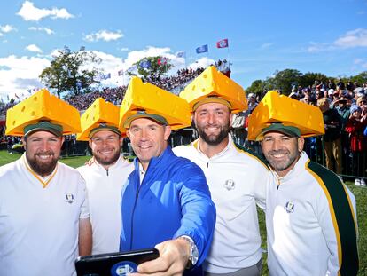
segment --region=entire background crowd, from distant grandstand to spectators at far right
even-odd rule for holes
[[[218,60],[214,66],[223,74],[230,76],[230,62],[227,60]],[[183,68],[178,70],[176,75],[152,77],[144,81],[178,94],[203,71],[202,67]],[[118,106],[121,105],[126,90],[127,86],[122,85],[68,96],[65,100],[80,111],[87,109],[98,97],[103,97],[106,101]],[[289,91],[285,91],[285,94],[287,92]],[[248,109],[232,118],[233,138],[239,145],[252,147],[255,151],[258,151],[256,144],[246,140],[246,122],[265,93],[266,91],[249,93]],[[367,176],[367,83],[359,85],[350,81],[343,83],[341,80],[337,83],[333,83],[332,80],[327,83],[315,81],[308,87],[293,86],[288,96],[306,104],[318,106],[323,112],[324,136],[307,138],[306,151],[311,158],[316,162],[323,162],[327,168],[340,176],[356,176],[355,185],[366,185],[364,178]],[[16,102],[11,102],[1,106],[0,115],[4,116],[6,110],[15,104]],[[7,139],[4,133],[0,134],[3,140]],[[192,139],[191,132],[187,135]],[[6,141],[9,142],[8,150],[11,152],[10,144],[15,141],[12,138]]]

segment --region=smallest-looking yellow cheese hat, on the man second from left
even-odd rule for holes
[[[106,102],[103,98],[96,99],[81,116],[82,131],[76,136],[77,140],[88,141],[100,130],[111,130],[121,135],[119,127],[118,106]]]

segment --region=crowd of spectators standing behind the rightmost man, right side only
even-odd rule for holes
[[[247,95],[249,108],[236,115],[233,122],[240,122],[234,130],[236,141],[243,146],[254,147],[242,133],[246,117],[251,115],[264,93]],[[338,175],[355,176],[355,185],[366,185],[367,177],[367,83],[341,80],[333,83],[315,82],[306,88],[293,87],[288,95],[309,105],[318,106],[324,116],[325,134],[319,138],[306,139],[306,151],[314,161],[322,162]],[[243,119],[241,120],[241,117]],[[323,159],[324,156],[324,160]]]

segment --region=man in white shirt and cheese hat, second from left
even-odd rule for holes
[[[97,111],[96,108],[97,107]],[[102,122],[85,118],[95,112],[110,114]],[[92,254],[119,251],[121,233],[121,186],[134,167],[121,154],[122,137],[118,130],[119,107],[99,98],[82,114],[79,140],[89,140],[93,159],[78,170],[86,181],[93,231]],[[90,116],[93,117],[93,116]]]

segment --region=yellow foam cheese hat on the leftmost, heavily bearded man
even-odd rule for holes
[[[8,109],[5,134],[23,136],[25,127],[37,122],[59,125],[64,135],[81,130],[79,111],[64,100],[51,95],[46,89],[42,89]]]

